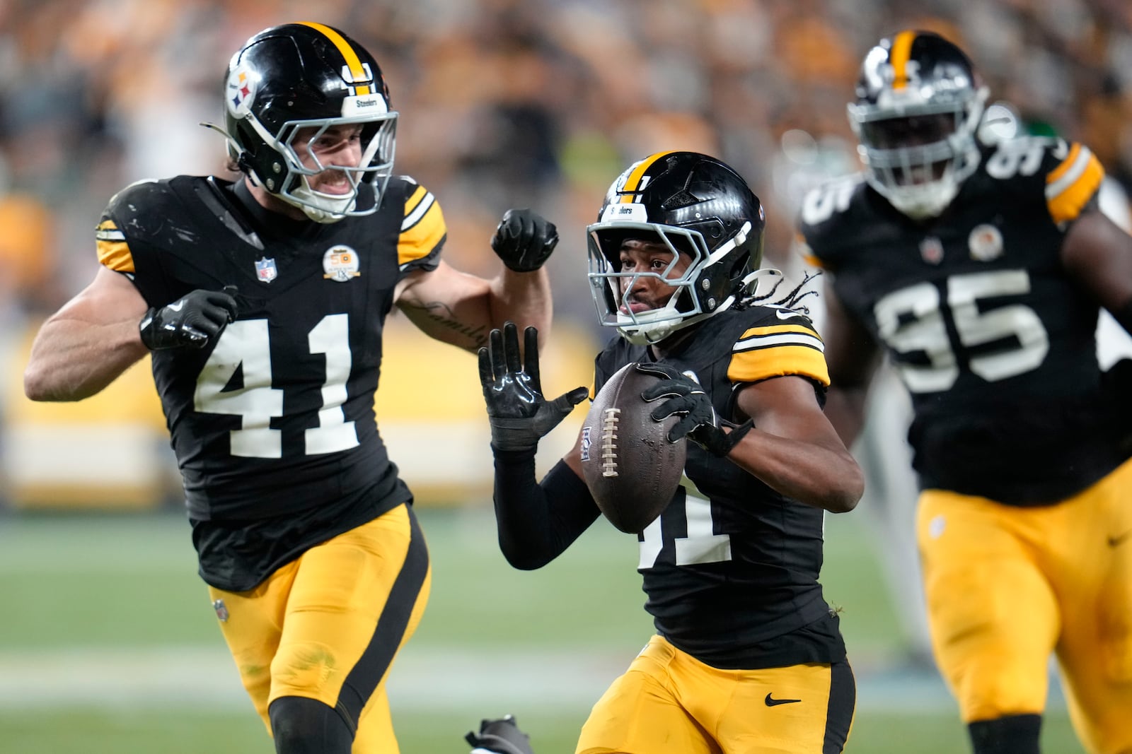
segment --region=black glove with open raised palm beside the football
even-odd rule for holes
[[[488,347],[480,348],[480,384],[491,423],[495,450],[533,450],[590,391],[574,388],[551,401],[542,397],[539,378],[539,331],[523,332],[525,363],[520,364],[518,328],[504,324],[491,330]]]

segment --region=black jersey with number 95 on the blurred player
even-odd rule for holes
[[[1099,390],[1099,309],[1061,262],[1103,177],[1086,147],[1024,138],[984,148],[931,222],[908,219],[859,176],[804,201],[811,260],[911,393],[923,486],[1041,504],[1123,460]]]

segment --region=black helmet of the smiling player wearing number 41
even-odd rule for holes
[[[229,154],[240,168],[311,219],[334,223],[368,215],[381,202],[393,174],[397,113],[374,57],[342,32],[315,23],[273,26],[248,40],[228,66],[224,112]],[[300,129],[362,124],[358,165],[305,166],[292,141]],[[315,157],[310,153],[310,157]],[[311,190],[307,176],[341,170],[353,190]],[[359,202],[361,184],[374,199]],[[363,205],[363,206],[362,206]]]

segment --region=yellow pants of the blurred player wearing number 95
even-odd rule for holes
[[[1055,652],[1088,751],[1132,752],[1132,461],[1041,508],[926,489],[917,539],[964,721],[1041,713]]]

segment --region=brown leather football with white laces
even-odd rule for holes
[[[582,425],[582,471],[609,522],[640,534],[660,515],[684,476],[687,441],[668,441],[680,417],[655,422],[641,392],[661,378],[626,364],[601,387]]]

